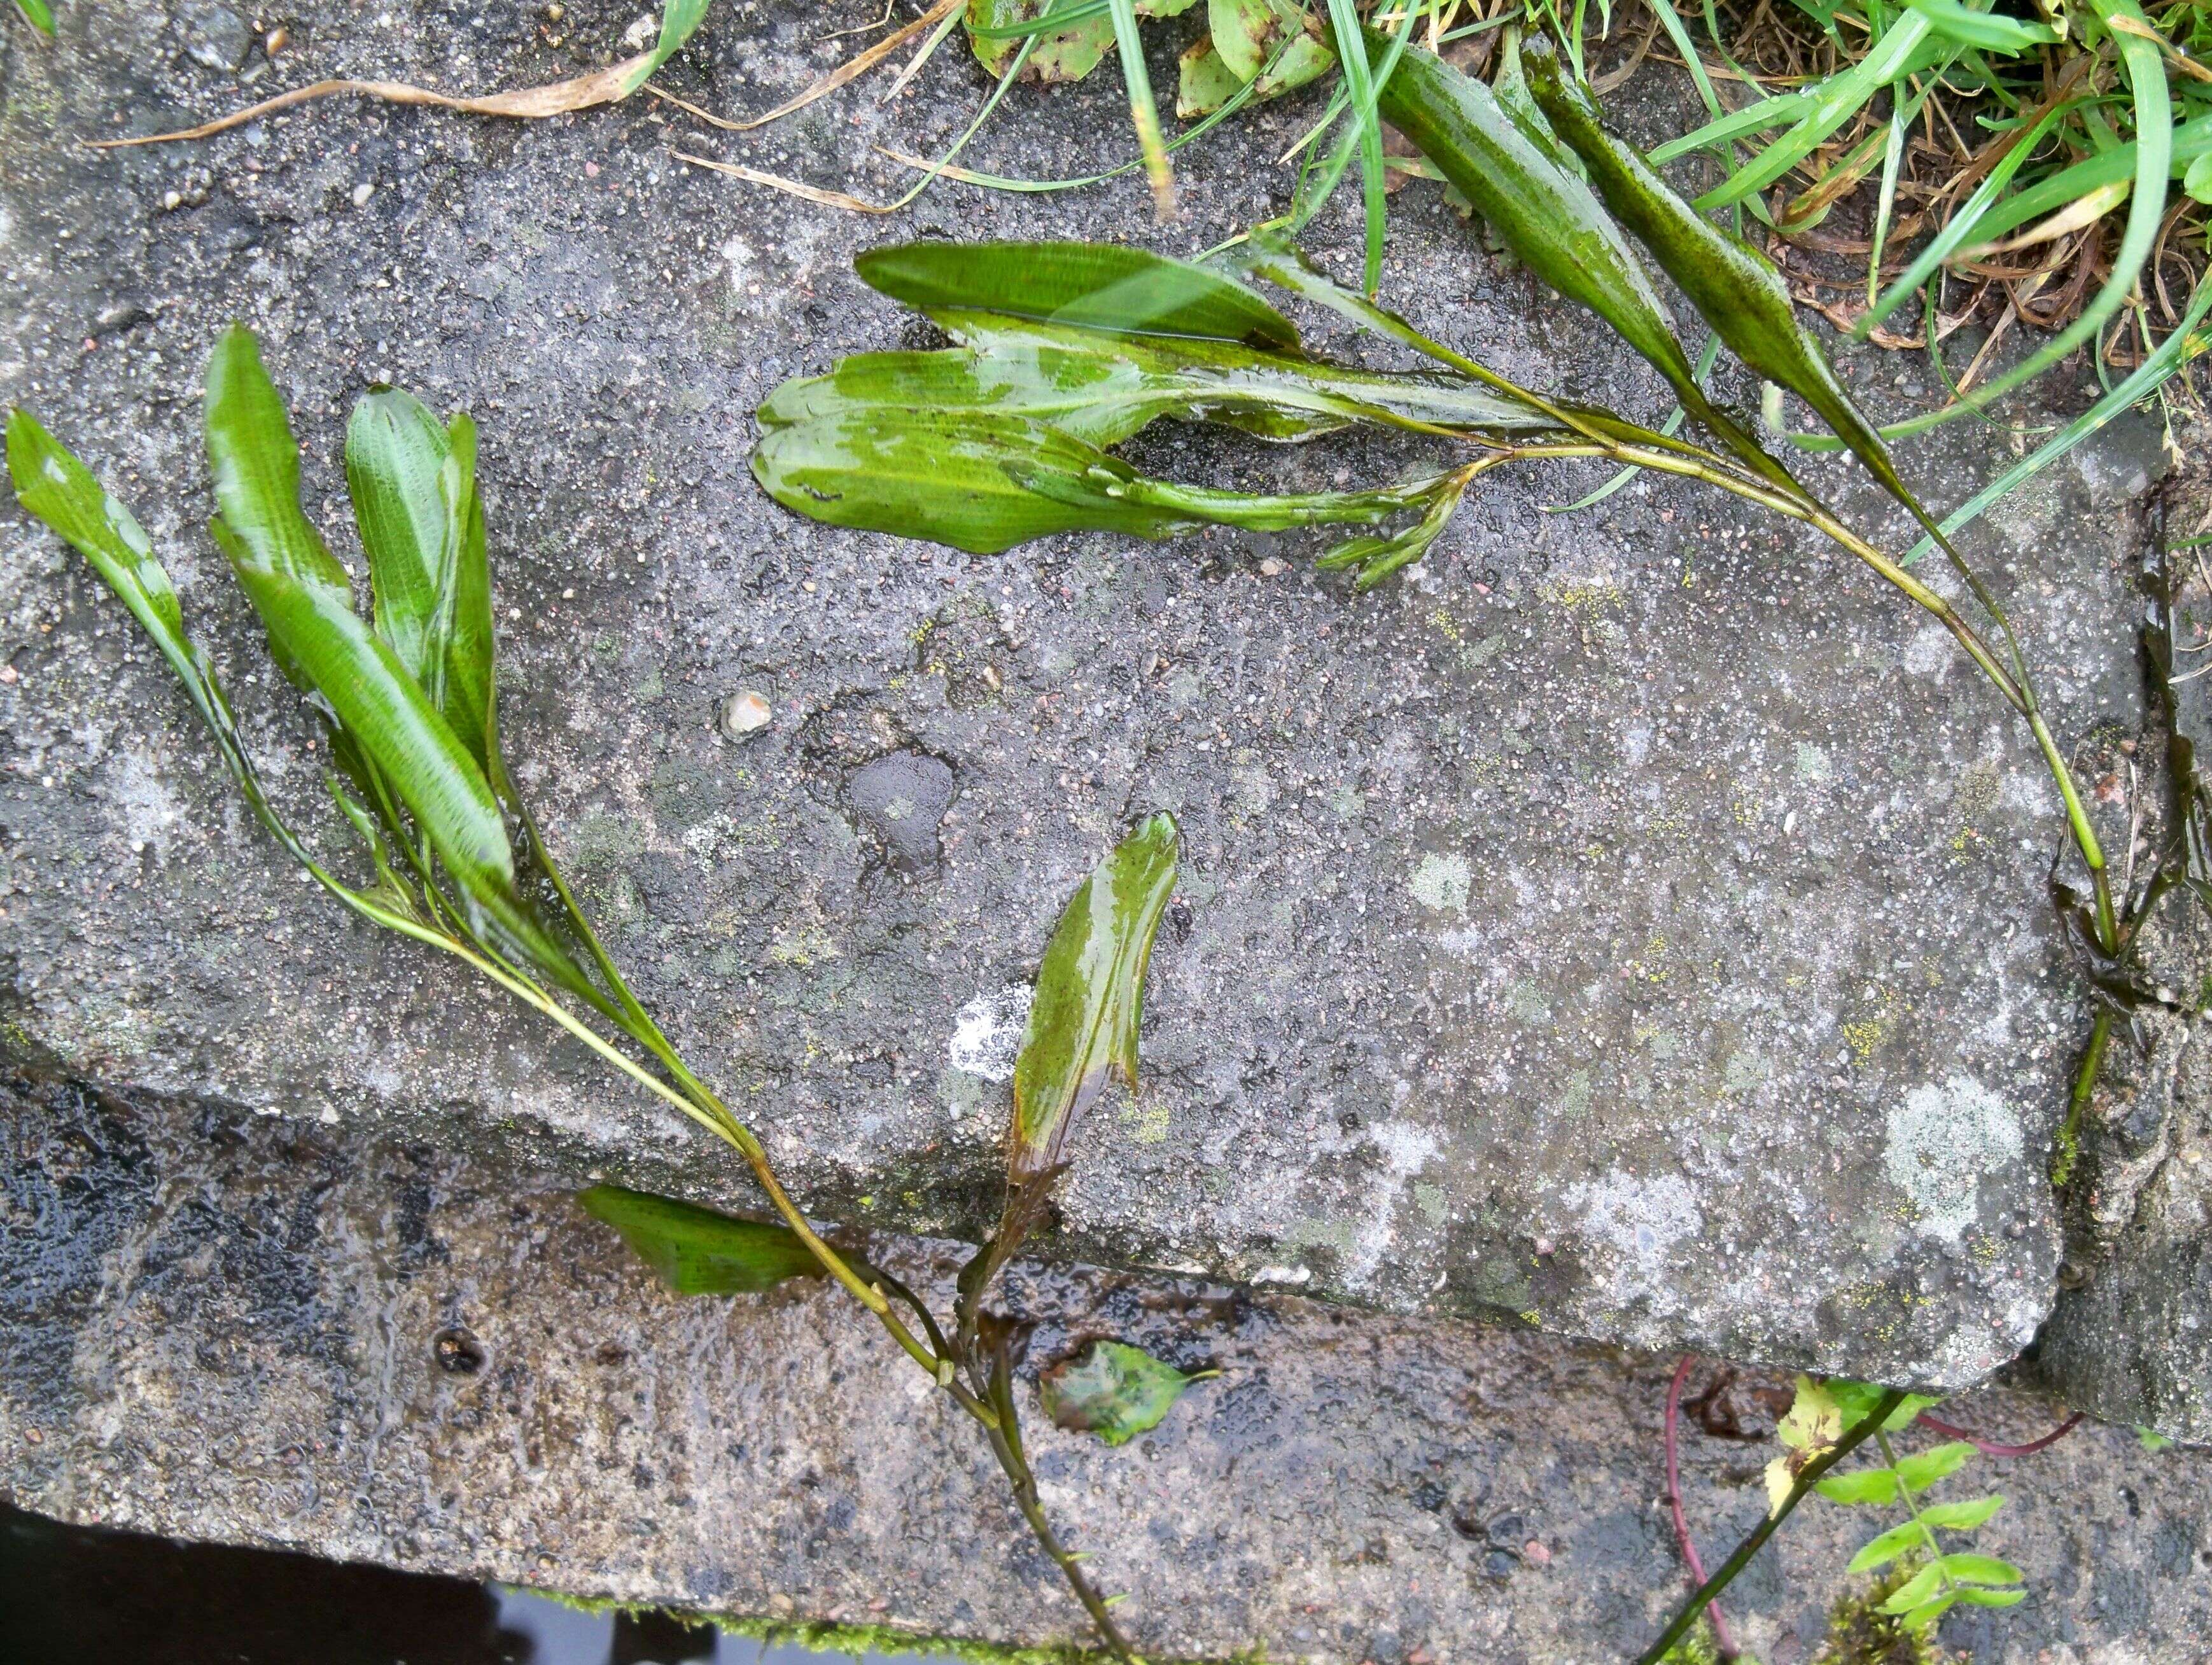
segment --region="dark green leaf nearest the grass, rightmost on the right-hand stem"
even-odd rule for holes
[[[1528,86],[1553,130],[1582,157],[1599,197],[1637,234],[1681,285],[1730,352],[1754,374],[1787,387],[1818,411],[1836,438],[1882,482],[1913,517],[1933,528],[1920,500],[1898,478],[1889,447],[1843,389],[1827,354],[1798,323],[1790,287],[1765,254],[1734,237],[1688,201],[1626,139],[1606,130],[1597,100],[1568,80],[1548,42],[1528,44]],[[1750,460],[1750,458],[1745,458]],[[1781,467],[1781,464],[1774,464]],[[1783,475],[1787,480],[1787,475]]]

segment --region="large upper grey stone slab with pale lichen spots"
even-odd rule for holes
[[[759,108],[845,49],[814,42],[830,18],[719,7],[670,84]],[[1071,884],[1166,807],[1188,913],[1152,962],[1150,1088],[1077,1141],[1064,1252],[1896,1380],[1971,1380],[2031,1338],[2084,1017],[2044,907],[2053,794],[1942,630],[1730,500],[1635,484],[1544,513],[1588,473],[1498,478],[1369,599],[1307,577],[1294,540],[978,562],[801,524],[745,475],[754,400],[927,338],[852,279],[854,248],[1135,232],[1141,184],[947,186],[878,221],[670,155],[891,192],[869,146],[929,150],[967,119],[956,53],[894,111],[845,95],[748,142],[641,100],[535,126],[327,104],[190,148],[80,148],[319,75],[549,80],[613,53],[630,13],[285,20],[250,86],[259,55],[210,71],[159,4],[71,4],[53,49],[9,31],[0,398],[137,504],[312,823],[312,727],[257,677],[199,531],[201,358],[228,318],[261,329],[341,546],[338,436],[367,380],[478,413],[524,785],[646,1002],[807,1207],[938,1234],[991,1216],[1004,1088],[956,1041],[991,1050]],[[1272,157],[1310,119],[1294,100],[1192,148],[1186,219],[1155,241],[1279,208]],[[973,159],[1075,172],[1124,124],[1108,77],[1024,88]],[[1663,409],[1427,186],[1391,223],[1387,301],[1535,385]],[[1349,237],[1338,217],[1318,241]],[[1845,363],[1876,413],[1918,394],[1893,387],[1905,360]],[[1137,453],[1305,486],[1429,462],[1179,431]],[[1949,504],[2004,458],[1960,425],[1909,471]],[[1971,540],[2086,756],[2141,723],[2130,493],[2157,460],[2152,427],[2117,425]],[[1845,464],[1807,469],[1902,546]],[[11,506],[0,573],[22,1044],[119,1086],[743,1196],[577,1048],[303,891],[119,608]],[[719,710],[748,688],[774,723],[739,743]],[[933,836],[869,796],[885,758],[936,783]]]

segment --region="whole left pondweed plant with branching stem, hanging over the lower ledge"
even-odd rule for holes
[[[221,338],[206,383],[219,506],[210,533],[261,619],[270,657],[321,716],[330,794],[361,838],[374,873],[367,884],[338,878],[279,811],[144,528],[22,409],[7,420],[15,498],[131,608],[246,803],[307,876],[363,920],[453,955],[737,1150],[779,1223],[728,1221],[613,1187],[586,1194],[586,1207],[617,1225],[681,1294],[763,1289],[796,1274],[843,1285],[982,1428],[1068,1588],[1099,1634],[1130,1654],[1108,1601],[1037,1501],[1013,1400],[1015,1333],[982,1302],[1044,1216],[1084,1110],[1113,1072],[1135,1088],[1144,973],[1177,876],[1175,820],[1144,820],[1084,880],[1053,933],[1015,1072],[1004,1218],[962,1278],[949,1338],[911,1289],[807,1223],[754,1132],[639,1006],[515,792],[495,712],[491,566],[471,418],[440,422],[389,387],[354,405],[345,478],[369,564],[372,612],[363,617],[345,568],[301,511],[299,447],[252,334],[232,327]],[[1144,1373],[1130,1375],[1130,1393],[1157,1409],[1137,1406],[1124,1420],[1157,1420],[1172,1402]]]

